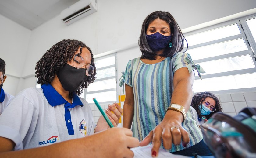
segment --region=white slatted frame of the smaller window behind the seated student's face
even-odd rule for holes
[[[116,88],[109,88],[109,89],[104,89],[104,90],[98,90],[98,91],[90,91],[90,92],[87,92],[87,88],[84,89],[84,99],[86,100],[86,95],[87,94],[94,94],[94,93],[101,93],[101,92],[108,92],[108,91],[116,91],[116,100],[114,101],[105,101],[105,102],[99,102],[101,103],[102,105],[103,104],[108,104],[108,103],[113,103],[113,102],[117,102],[118,101],[118,94],[117,94],[117,63],[116,63],[116,53],[112,53],[112,54],[109,54],[109,55],[105,55],[105,56],[102,56],[102,57],[96,57],[94,58],[94,62],[97,61],[97,60],[101,60],[101,59],[104,59],[104,58],[108,58],[108,57],[112,57],[114,56],[115,57],[115,64],[113,65],[108,65],[106,67],[101,67],[101,68],[97,68],[96,67],[96,73],[98,70],[103,70],[103,69],[106,69],[106,68],[110,68],[110,67],[115,67],[115,76],[111,76],[111,77],[105,77],[105,78],[100,78],[100,79],[95,79],[94,82],[96,81],[104,81],[104,80],[108,80],[108,79],[113,79],[115,78],[116,80]],[[96,77],[97,77],[97,74],[96,74]],[[90,85],[89,85],[90,86]],[[94,105],[94,103],[89,103],[89,105]]]

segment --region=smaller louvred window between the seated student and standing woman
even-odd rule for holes
[[[92,98],[98,102],[117,101],[116,54],[95,58],[94,62],[97,78],[84,90],[84,98],[88,103],[94,102]]]

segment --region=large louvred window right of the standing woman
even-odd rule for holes
[[[255,28],[254,15],[185,34],[187,53],[206,71],[202,80],[195,73],[194,93],[255,89]]]

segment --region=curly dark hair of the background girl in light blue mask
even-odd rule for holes
[[[202,117],[198,105],[202,104],[203,101],[205,100],[205,98],[207,98],[207,97],[210,97],[215,101],[216,111],[211,112],[209,115],[205,115],[206,119],[209,119],[214,113],[222,111],[221,105],[219,103],[219,99],[214,94],[212,94],[210,92],[200,92],[200,93],[195,94],[191,101],[191,106],[197,111],[198,118]]]

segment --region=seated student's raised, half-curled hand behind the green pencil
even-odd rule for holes
[[[123,113],[122,108],[117,104],[113,103],[112,105],[108,105],[108,108],[105,110],[106,115],[108,116],[111,123],[114,127],[117,127],[119,123],[119,119]],[[99,132],[105,129],[110,128],[104,117],[101,115],[98,119],[97,126],[95,132]]]

